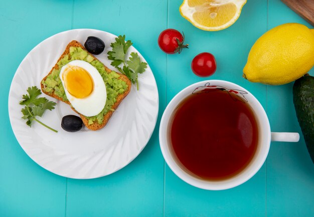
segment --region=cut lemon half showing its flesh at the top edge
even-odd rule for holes
[[[201,30],[218,31],[238,20],[245,3],[246,0],[184,0],[180,14]]]

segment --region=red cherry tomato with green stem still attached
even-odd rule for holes
[[[180,54],[183,48],[189,46],[184,45],[184,33],[182,35],[174,29],[164,30],[158,37],[158,45],[167,54]]]

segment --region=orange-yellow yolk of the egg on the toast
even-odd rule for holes
[[[68,66],[62,75],[65,88],[76,98],[84,98],[93,91],[93,80],[89,73],[78,66]]]

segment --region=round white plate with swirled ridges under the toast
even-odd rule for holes
[[[22,95],[30,86],[40,88],[41,80],[50,72],[72,40],[82,45],[88,36],[102,39],[106,45],[103,53],[96,57],[111,70],[115,70],[107,59],[110,44],[116,38],[107,32],[92,29],[77,29],[56,34],[37,45],[20,64],[9,93],[9,116],[13,132],[24,151],[40,166],[58,175],[70,178],[96,178],[113,173],[131,162],[147,144],[156,124],[159,96],[156,81],[149,66],[138,77],[139,91],[132,85],[130,93],[113,112],[107,125],[91,131],[70,133],[61,128],[61,119],[75,114],[70,106],[57,102],[52,111],[46,111],[40,120],[58,130],[55,133],[33,121],[32,127],[22,119],[19,104]],[[134,48],[130,52],[137,52]],[[145,61],[146,62],[146,61]]]

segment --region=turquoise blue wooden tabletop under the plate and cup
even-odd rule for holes
[[[235,82],[261,102],[273,131],[300,133],[292,83],[253,84],[242,78],[248,52],[267,30],[288,22],[310,27],[279,0],[248,0],[239,20],[219,32],[192,26],[179,13],[182,0],[0,0],[0,216],[313,216],[314,165],[304,140],[272,143],[260,171],[233,189],[207,191],[179,179],[159,147],[159,121],[167,103],[184,87],[204,80],[191,60],[210,52],[217,72],[210,79]],[[64,178],[41,168],[22,150],[8,117],[11,80],[27,53],[58,32],[94,28],[125,34],[149,63],[160,94],[158,125],[140,155],[111,175]],[[190,49],[166,55],[156,41],[161,31],[184,31]],[[310,27],[312,28],[312,27]],[[313,75],[313,70],[310,74]]]

